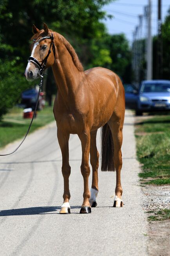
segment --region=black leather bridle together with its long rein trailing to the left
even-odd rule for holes
[[[51,34],[52,34],[52,33],[51,33]],[[42,63],[40,63],[36,58],[34,58],[34,57],[32,57],[32,56],[30,56],[30,57],[28,58],[28,61],[32,61],[33,63],[35,63],[35,64],[39,67],[39,73],[40,73],[40,78],[41,78],[41,81],[40,81],[40,83],[39,83],[39,91],[38,91],[38,96],[37,96],[37,100],[36,100],[36,106],[35,106],[35,109],[34,109],[33,117],[32,117],[32,119],[31,119],[31,122],[30,122],[30,124],[29,124],[28,130],[27,130],[27,132],[26,132],[24,138],[22,139],[20,145],[18,145],[18,147],[15,148],[15,149],[13,150],[13,152],[11,152],[11,153],[9,153],[9,154],[3,154],[3,155],[0,154],[0,156],[9,156],[9,155],[13,154],[14,152],[16,152],[16,150],[17,150],[17,149],[22,145],[22,143],[25,141],[25,139],[26,139],[26,137],[27,137],[27,135],[28,135],[28,133],[29,133],[29,130],[30,130],[30,128],[31,128],[31,124],[32,124],[33,119],[34,119],[34,117],[35,117],[36,109],[37,109],[37,106],[38,106],[38,100],[39,100],[40,91],[41,91],[42,82],[43,82],[43,72],[44,72],[44,69],[45,69],[45,65],[46,65],[46,63],[47,63],[47,59],[48,59],[48,57],[49,57],[49,55],[50,55],[50,53],[51,53],[51,46],[52,46],[52,51],[53,51],[53,53],[54,53],[54,59],[55,59],[55,57],[56,57],[55,45],[54,45],[54,42],[53,42],[53,39],[54,39],[53,35],[52,35],[52,36],[47,36],[47,37],[42,37],[41,39],[39,39],[39,40],[36,41],[36,42],[41,42],[41,41],[43,41],[43,40],[45,40],[45,39],[51,39],[51,44],[50,44],[49,52],[48,52],[47,56],[45,57],[45,59],[43,59]],[[34,39],[33,39],[33,40],[34,40]],[[34,41],[35,41],[35,40],[34,40]]]

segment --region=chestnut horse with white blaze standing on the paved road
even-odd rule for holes
[[[43,24],[43,30],[33,25],[31,56],[25,69],[25,77],[33,81],[43,70],[52,67],[57,87],[53,113],[57,125],[57,137],[62,153],[64,179],[63,204],[60,213],[70,213],[69,199],[69,136],[78,134],[81,141],[81,174],[84,181],[83,204],[80,213],[91,213],[96,207],[98,195],[99,152],[96,134],[101,128],[101,170],[116,169],[116,188],[113,207],[123,207],[121,187],[123,140],[125,117],[125,92],[118,75],[109,69],[94,67],[83,71],[83,66],[71,44],[57,32]],[[89,191],[89,154],[92,165],[92,186]]]

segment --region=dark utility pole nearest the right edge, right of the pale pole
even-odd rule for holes
[[[162,63],[163,63],[163,47],[162,47],[162,19],[161,19],[161,0],[158,0],[158,37],[157,37],[157,79],[162,78]]]

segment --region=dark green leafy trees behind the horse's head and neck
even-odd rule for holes
[[[30,54],[32,24],[41,29],[46,22],[77,46],[78,54],[81,46],[89,52],[92,37],[98,38],[105,30],[99,20],[106,17],[101,7],[109,2],[111,0],[18,0],[16,4],[13,0],[0,1],[0,117],[16,104],[20,93],[30,87],[23,73]],[[80,59],[85,65],[89,61],[86,62],[83,54]]]

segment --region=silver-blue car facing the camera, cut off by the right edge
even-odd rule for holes
[[[137,95],[136,115],[150,111],[170,111],[170,81],[146,80]]]

